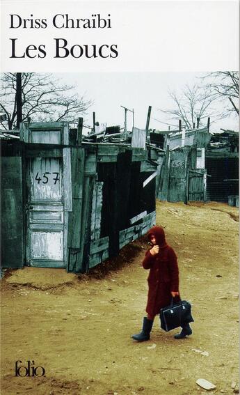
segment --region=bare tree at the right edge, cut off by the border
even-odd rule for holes
[[[216,98],[227,100],[226,116],[229,115],[227,112],[236,111],[239,114],[237,108],[239,102],[239,72],[237,71],[216,71],[210,72],[203,77],[205,82],[209,84],[211,89],[216,95]],[[210,81],[209,81],[210,79]],[[230,107],[229,104],[231,103]]]

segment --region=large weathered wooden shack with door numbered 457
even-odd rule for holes
[[[155,223],[157,164],[81,125],[22,123],[1,141],[1,262],[88,272]]]

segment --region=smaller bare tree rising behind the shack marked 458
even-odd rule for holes
[[[207,124],[206,118],[216,118],[216,110],[212,107],[215,95],[209,86],[189,85],[184,86],[182,93],[170,91],[173,99],[173,109],[160,109],[165,114],[169,114],[172,119],[182,119],[188,129],[195,127],[197,118],[199,125]]]

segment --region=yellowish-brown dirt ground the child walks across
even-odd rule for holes
[[[226,204],[157,201],[157,224],[177,252],[182,298],[192,304],[187,339],[163,332],[158,317],[150,341],[131,339],[147,301],[143,240],[88,276],[8,272],[1,281],[1,394],[207,393],[198,378],[216,385],[211,394],[238,394],[238,221],[237,208]],[[43,366],[45,376],[15,377],[17,360]]]

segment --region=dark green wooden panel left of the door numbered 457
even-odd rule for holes
[[[22,158],[1,157],[1,265],[22,268]]]

